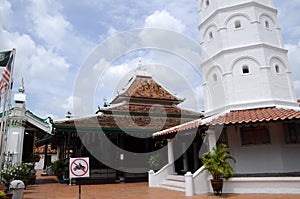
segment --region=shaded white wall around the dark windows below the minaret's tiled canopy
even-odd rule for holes
[[[237,174],[300,172],[300,144],[285,143],[281,123],[271,124],[269,131],[270,144],[243,146],[240,129],[228,128],[228,145],[237,160],[233,165]]]

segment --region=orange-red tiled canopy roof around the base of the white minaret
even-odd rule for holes
[[[295,111],[293,109],[284,108],[257,108],[248,110],[235,110],[230,111],[218,118],[212,119],[211,121],[205,123],[201,122],[201,119],[194,120],[179,126],[172,127],[157,133],[153,136],[164,136],[168,134],[175,134],[180,131],[197,128],[201,123],[205,126],[211,125],[234,125],[234,124],[249,124],[249,123],[259,123],[259,122],[270,122],[270,121],[283,121],[300,119],[300,111]],[[203,121],[203,120],[202,120]]]

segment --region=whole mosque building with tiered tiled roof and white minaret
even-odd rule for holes
[[[12,114],[19,122],[8,131],[7,159],[13,163],[25,159],[26,144],[18,148],[21,145],[12,140],[34,143],[40,136],[39,143],[57,147],[60,159],[90,157],[95,181],[147,179],[148,175],[150,187],[191,196],[212,192],[210,176],[202,172],[198,156],[203,143],[210,150],[226,143],[237,162],[233,165],[236,176],[224,182],[224,192],[300,193],[300,155],[296,153],[300,150],[300,109],[273,0],[197,2],[204,115],[178,107],[183,99],[141,70],[142,66],[124,90],[93,116],[47,122],[26,111],[21,91],[15,96]],[[82,132],[95,136],[89,142],[99,141],[99,145],[99,131],[116,146],[135,153],[158,150],[161,146],[156,143],[167,145],[166,165],[159,170],[149,168],[148,174],[109,168],[82,144],[78,121]],[[126,158],[111,151],[106,149],[103,157],[110,161]],[[174,157],[176,151],[182,155]],[[131,164],[124,166],[145,169],[134,161]]]

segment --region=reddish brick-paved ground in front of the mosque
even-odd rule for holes
[[[43,184],[29,185],[23,199],[78,199],[78,186],[59,184],[55,177],[38,176]],[[45,183],[47,182],[47,183]],[[212,194],[185,197],[183,192],[169,191],[161,188],[148,188],[147,183],[124,183],[103,185],[82,185],[81,199],[299,199],[300,195],[271,194],[224,194],[221,197]]]

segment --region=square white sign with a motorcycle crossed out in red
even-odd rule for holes
[[[89,158],[70,158],[70,178],[90,177]]]

